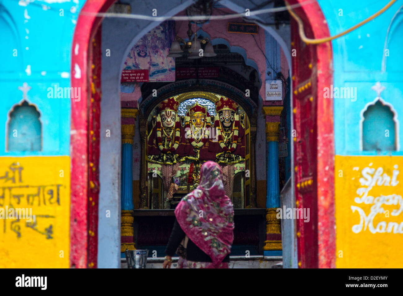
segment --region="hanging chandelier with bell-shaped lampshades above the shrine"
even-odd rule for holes
[[[196,34],[194,34],[193,39],[191,39],[193,35],[193,31],[191,29],[191,22],[189,21],[187,27],[187,36],[189,41],[185,41],[179,35],[176,35],[175,40],[172,41],[171,48],[169,50],[168,57],[170,58],[179,58],[181,56],[186,56],[187,53],[190,53],[187,58],[189,59],[197,59],[206,57],[213,57],[217,54],[214,52],[214,48],[210,43],[210,40],[206,38],[197,38]],[[202,50],[202,51],[200,51]],[[203,54],[200,55],[199,53],[202,52]]]

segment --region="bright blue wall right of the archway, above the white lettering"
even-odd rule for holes
[[[319,4],[330,35],[335,35],[370,17],[388,2],[320,0]],[[403,13],[397,12],[402,5],[403,0],[397,1],[376,19],[332,41],[334,87],[357,88],[356,101],[334,99],[334,137],[338,155],[403,155],[402,151],[361,151],[359,124],[361,111],[377,97],[371,89],[377,81],[386,87],[380,97],[393,106],[397,119],[403,114]],[[343,16],[339,16],[339,9],[343,10]],[[389,56],[385,56],[385,49],[389,50]],[[385,60],[386,67],[382,67]],[[398,138],[402,147],[402,128],[399,128]]]

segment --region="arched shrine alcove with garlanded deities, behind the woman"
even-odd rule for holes
[[[174,103],[177,104],[176,107],[169,105],[170,99],[172,102],[177,102]],[[245,170],[251,172],[255,168],[254,161],[251,161],[253,157],[251,151],[254,150],[251,149],[254,145],[251,143],[251,130],[256,130],[256,124],[255,128],[251,128],[245,110],[237,104],[235,99],[207,91],[179,93],[170,99],[159,99],[157,106],[144,116],[147,120],[140,122],[142,125],[140,130],[147,135],[147,141],[143,142],[141,152],[143,167],[140,207],[142,209],[174,209],[181,198],[197,186],[199,168],[208,160],[218,162],[222,166],[224,176],[231,175],[227,178],[228,184],[224,185],[226,185],[227,195],[233,199],[235,208],[256,207],[256,195],[253,194],[256,191],[255,180],[249,177],[253,174],[245,175]],[[168,101],[168,105],[164,105],[164,101]],[[224,137],[220,138],[218,130],[221,131],[223,128],[220,124],[222,112],[217,112],[220,109],[217,106],[225,101],[231,101],[233,104],[231,105],[233,112],[228,113],[234,115],[234,122],[231,125],[231,132],[224,131]],[[179,126],[179,145],[173,153],[168,154],[164,154],[161,147],[158,147],[158,129],[162,129],[161,139],[164,145],[167,145],[166,148],[172,146],[170,141],[172,143],[175,141],[174,131],[164,128],[164,115],[160,113],[164,108],[177,110],[171,121],[174,124],[176,120]],[[237,126],[239,130],[237,148],[224,156],[219,139],[225,140],[226,137],[231,137],[233,141],[233,126]],[[187,130],[189,130],[188,134]],[[202,137],[203,132],[204,137]],[[164,141],[167,137],[169,141]],[[176,184],[178,188],[174,188],[172,184]]]

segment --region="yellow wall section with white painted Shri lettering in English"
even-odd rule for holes
[[[336,267],[403,266],[401,156],[335,158]]]

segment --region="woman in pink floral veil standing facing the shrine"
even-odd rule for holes
[[[180,245],[177,268],[228,268],[234,239],[234,209],[225,195],[218,164],[214,161],[203,164],[199,186],[183,197],[175,216],[164,268],[170,268]]]

